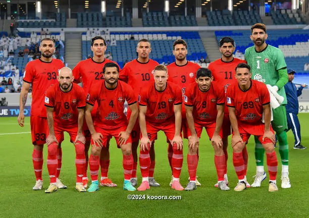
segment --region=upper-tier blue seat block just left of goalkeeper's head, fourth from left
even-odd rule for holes
[[[207,11],[209,26],[243,26],[261,23],[262,19],[257,11]]]

